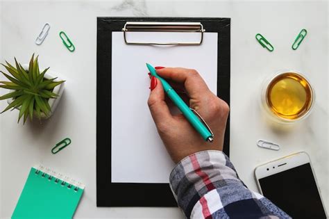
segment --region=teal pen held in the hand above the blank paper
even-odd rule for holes
[[[207,140],[208,142],[212,142],[214,140],[214,135],[210,132],[210,129],[208,129],[201,120],[199,120],[199,117],[197,117],[191,108],[185,104],[182,98],[177,94],[177,92],[171,88],[169,83],[165,81],[165,79],[162,79],[158,74],[155,72],[155,68],[146,63],[147,68],[149,69],[152,76],[155,76],[157,79],[159,79],[162,83],[163,90],[165,90],[165,93],[167,93],[168,97],[174,102],[174,104],[180,109],[180,111],[183,113],[183,115],[186,117],[186,119],[189,121],[190,124],[198,131],[202,138],[204,140]]]

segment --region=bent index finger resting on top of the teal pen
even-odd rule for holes
[[[165,79],[183,83],[191,99],[201,99],[205,92],[210,92],[207,84],[196,70],[182,67],[165,67],[157,69],[156,72]]]

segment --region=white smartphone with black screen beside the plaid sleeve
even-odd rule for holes
[[[260,193],[292,218],[327,218],[310,156],[298,152],[255,168]]]

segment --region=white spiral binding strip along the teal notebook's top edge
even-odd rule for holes
[[[72,189],[77,192],[79,189],[84,189],[85,185],[80,181],[76,181],[71,177],[67,177],[65,175],[56,172],[55,170],[51,170],[50,168],[45,168],[43,165],[34,166],[35,174],[40,175],[43,178],[51,181],[53,178],[55,179],[53,182],[59,184],[60,186],[65,186],[68,189]]]

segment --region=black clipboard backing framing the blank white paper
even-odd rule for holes
[[[126,22],[201,22],[206,32],[219,33],[217,96],[230,104],[230,18],[97,17],[97,206],[177,206],[169,184],[112,183],[111,181],[111,136],[109,133],[111,133],[112,31],[122,31]],[[223,147],[223,152],[228,156],[229,143],[230,117],[226,124]]]

